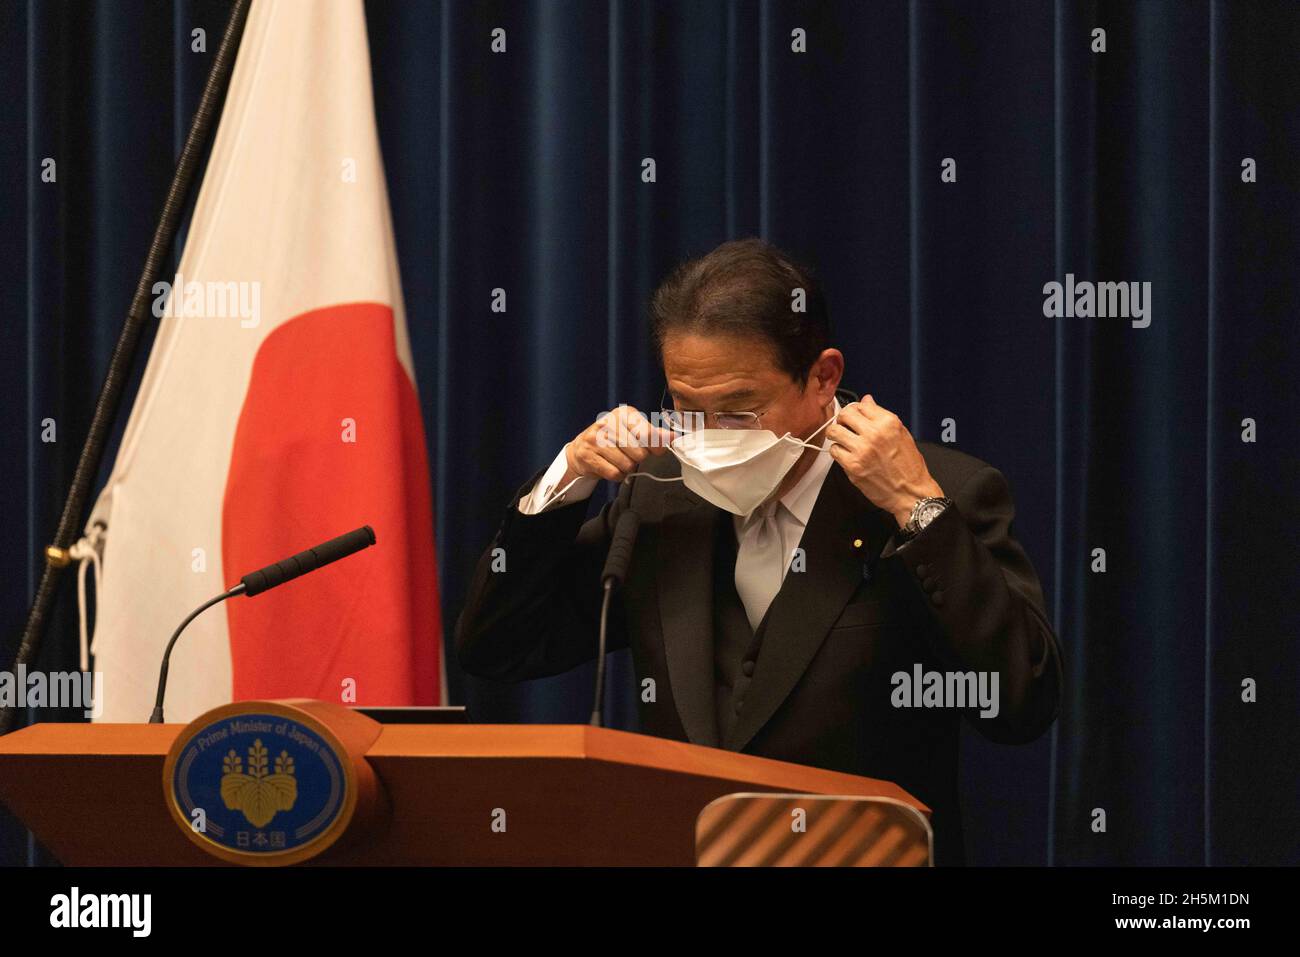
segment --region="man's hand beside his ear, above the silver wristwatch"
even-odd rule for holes
[[[844,406],[826,434],[832,442],[831,458],[849,481],[893,515],[900,528],[911,518],[918,499],[944,494],[911,433],[870,395]]]

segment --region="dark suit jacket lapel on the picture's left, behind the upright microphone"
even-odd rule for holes
[[[714,534],[718,510],[673,486],[655,538],[659,620],[672,700],[686,737],[718,748],[714,710]]]

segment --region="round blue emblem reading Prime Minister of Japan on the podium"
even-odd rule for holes
[[[221,711],[234,709],[195,722],[173,748],[173,811],[228,859],[303,857],[351,811],[352,780],[337,745],[292,713]]]

